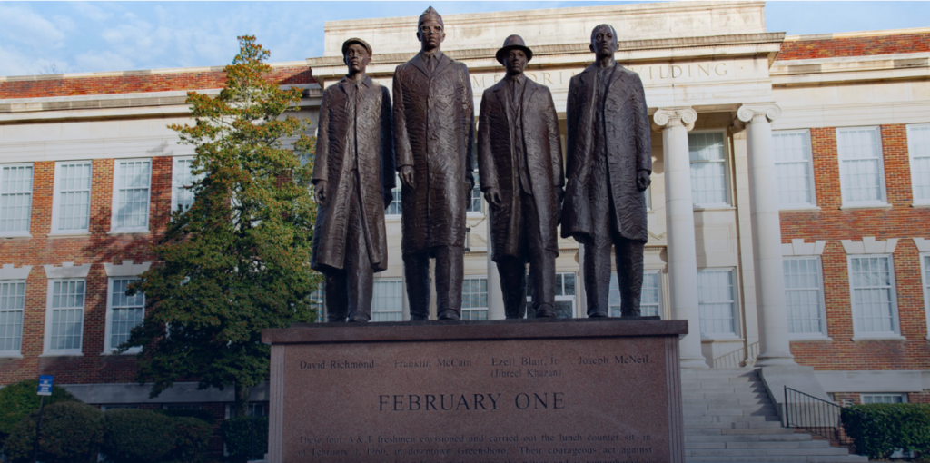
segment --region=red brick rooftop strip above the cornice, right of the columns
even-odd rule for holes
[[[778,60],[815,60],[927,51],[930,51],[930,33],[786,40],[781,44]]]

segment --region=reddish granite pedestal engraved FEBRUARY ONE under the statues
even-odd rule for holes
[[[265,330],[270,461],[684,462],[686,332],[658,317]]]

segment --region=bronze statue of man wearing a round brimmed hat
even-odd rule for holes
[[[500,272],[507,318],[526,310],[526,262],[537,317],[554,317],[559,207],[565,177],[559,120],[549,87],[526,78],[533,50],[519,35],[504,40],[507,76],[485,90],[478,125],[478,175],[491,205],[491,259]]]

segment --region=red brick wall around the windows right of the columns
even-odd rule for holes
[[[890,209],[841,210],[840,168],[835,127],[811,129],[817,212],[781,213],[784,243],[827,240],[821,261],[827,330],[831,342],[791,342],[799,364],[818,370],[910,370],[930,368],[930,344],[923,305],[920,259],[913,237],[930,237],[930,208],[911,207],[907,132],[882,126],[885,185]],[[899,238],[894,253],[899,340],[853,341],[849,276],[840,240]]]

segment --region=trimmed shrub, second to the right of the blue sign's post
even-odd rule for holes
[[[175,446],[174,418],[152,410],[116,408],[103,414],[100,452],[113,463],[158,463]]]

